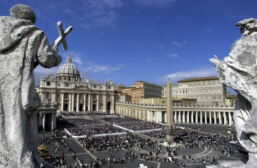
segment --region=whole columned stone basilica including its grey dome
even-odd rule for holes
[[[40,79],[36,88],[42,101],[51,101],[57,111],[102,111],[114,113],[114,82],[100,83],[80,77],[79,69],[72,64],[70,55],[56,76],[48,74]]]

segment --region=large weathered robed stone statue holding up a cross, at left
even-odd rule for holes
[[[45,33],[33,24],[30,7],[15,5],[10,16],[0,16],[0,168],[50,167],[38,156],[35,110],[41,100],[35,92],[33,69],[58,66],[57,48],[72,30],[58,23],[60,37],[49,45]]]

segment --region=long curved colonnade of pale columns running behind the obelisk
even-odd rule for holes
[[[233,125],[234,107],[211,106],[173,106],[176,123],[223,124]],[[166,123],[166,107],[145,104],[115,103],[115,113],[145,121]]]

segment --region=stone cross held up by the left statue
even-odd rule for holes
[[[61,22],[57,23],[58,31],[60,36],[53,42],[51,47],[57,49],[58,46],[62,43],[64,51],[68,49],[65,37],[72,31],[72,26],[69,26],[65,31],[63,30],[63,25]]]

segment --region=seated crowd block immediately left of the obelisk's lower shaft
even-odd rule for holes
[[[165,125],[161,125],[154,122],[137,122],[135,123],[118,123],[120,127],[133,131],[143,131],[143,130],[154,130],[154,129],[164,129]]]

